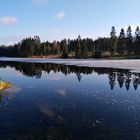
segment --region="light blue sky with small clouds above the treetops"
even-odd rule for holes
[[[42,41],[109,36],[112,25],[140,25],[140,0],[1,0],[0,44],[39,35]]]

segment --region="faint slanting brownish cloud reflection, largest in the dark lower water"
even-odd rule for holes
[[[48,117],[55,116],[55,112],[47,104],[40,105],[39,109],[43,114],[47,115]]]

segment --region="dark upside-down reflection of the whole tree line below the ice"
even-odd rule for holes
[[[15,68],[16,71],[21,72],[23,75],[28,77],[34,77],[40,79],[42,72],[61,72],[64,75],[74,73],[79,82],[81,82],[84,75],[92,75],[97,73],[98,75],[108,75],[108,81],[110,89],[113,90],[115,86],[119,85],[119,88],[125,87],[127,90],[133,85],[134,89],[137,90],[140,85],[140,74],[129,72],[129,70],[121,69],[109,69],[109,68],[89,68],[89,67],[77,67],[77,66],[66,66],[62,64],[40,64],[40,63],[18,63],[18,62],[0,62],[1,68],[11,67]],[[59,80],[60,77],[52,77],[52,80]],[[93,77],[94,78],[94,77]]]

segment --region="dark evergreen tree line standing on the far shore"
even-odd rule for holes
[[[111,28],[110,37],[96,40],[86,38],[63,39],[61,41],[41,42],[39,36],[25,38],[11,46],[0,46],[0,56],[7,57],[46,57],[60,58],[101,58],[130,57],[140,55],[140,29],[137,26],[133,35],[131,26],[125,32],[122,28],[117,36],[115,27]]]

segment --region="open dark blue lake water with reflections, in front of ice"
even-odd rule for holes
[[[140,74],[0,62],[0,140],[140,139]]]

